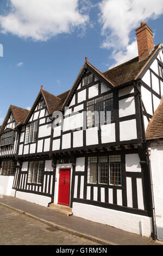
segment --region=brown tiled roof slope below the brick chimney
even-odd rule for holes
[[[135,80],[141,71],[145,68],[149,60],[153,57],[160,45],[161,44],[158,44],[154,47],[153,52],[149,55],[148,58],[141,61],[139,61],[139,57],[130,59],[128,62],[103,72],[103,75],[105,78],[111,81],[112,84],[114,83],[114,86],[120,86],[120,84]]]

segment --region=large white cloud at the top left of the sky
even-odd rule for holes
[[[89,16],[79,11],[78,0],[8,0],[7,15],[0,15],[2,33],[46,41],[60,33],[84,27]],[[84,10],[84,9],[83,9]]]

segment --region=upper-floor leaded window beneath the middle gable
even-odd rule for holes
[[[25,144],[36,142],[37,139],[37,127],[38,121],[27,125],[26,127],[26,137],[25,137]]]

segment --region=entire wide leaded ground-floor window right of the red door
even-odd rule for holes
[[[121,156],[88,157],[87,183],[121,186]]]

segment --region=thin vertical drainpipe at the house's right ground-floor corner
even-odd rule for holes
[[[154,194],[153,194],[153,181],[152,181],[152,168],[151,168],[151,149],[147,148],[147,159],[149,168],[149,182],[151,187],[151,205],[152,205],[152,228],[153,228],[153,240],[156,240],[156,221],[155,221],[155,207],[154,207]]]

